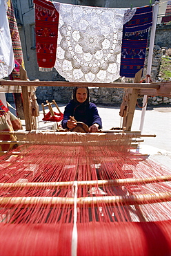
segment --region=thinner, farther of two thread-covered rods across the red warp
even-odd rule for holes
[[[138,179],[115,179],[115,180],[97,180],[97,181],[77,181],[78,186],[123,186],[123,185],[145,185],[150,183],[159,183],[159,182],[166,182],[171,181],[171,176],[156,176],[156,177],[147,177],[147,178],[138,178]],[[0,183],[0,189],[16,189],[16,188],[35,188],[35,189],[59,189],[59,188],[66,188],[70,187],[74,184],[74,181],[60,181],[60,182],[30,182],[30,183]]]

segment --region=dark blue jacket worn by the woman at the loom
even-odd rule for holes
[[[87,102],[86,104],[78,104],[74,102],[74,100],[71,100],[70,103],[66,105],[63,113],[63,120],[61,122],[63,129],[68,128],[67,121],[70,119],[70,116],[74,116],[78,122],[84,122],[88,127],[97,123],[99,129],[102,128],[101,118],[94,103]]]

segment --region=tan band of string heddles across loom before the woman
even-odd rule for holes
[[[50,145],[124,145],[123,149],[126,150],[130,147],[132,142],[132,134],[83,134],[83,133],[70,133],[68,132],[41,132],[32,131],[28,134],[18,134],[17,138],[20,141],[25,141],[25,144],[50,144]],[[119,148],[121,150],[122,147]]]

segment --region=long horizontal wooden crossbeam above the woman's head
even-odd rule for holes
[[[170,81],[169,81],[170,82]],[[165,82],[166,84],[167,82]],[[88,86],[107,88],[132,88],[132,89],[160,89],[163,82],[156,83],[88,83],[88,82],[65,82],[65,81],[25,81],[25,80],[0,80],[1,86]],[[170,82],[171,85],[171,82]]]

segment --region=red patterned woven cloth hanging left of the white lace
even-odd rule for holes
[[[37,63],[40,71],[51,71],[57,52],[59,13],[50,1],[34,0]]]

